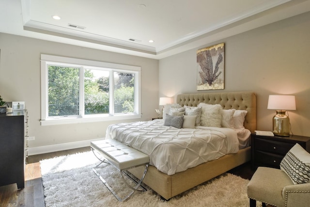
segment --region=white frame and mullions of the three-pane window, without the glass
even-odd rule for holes
[[[80,106],[80,113],[78,116],[70,117],[48,117],[48,64],[56,64],[63,66],[73,66],[81,68],[80,71],[86,69],[104,68],[110,71],[111,77],[114,72],[122,73],[134,73],[135,85],[134,85],[134,111],[133,113],[116,113],[111,111],[114,107],[114,95],[110,95],[109,99],[109,114],[84,114],[84,105]],[[81,72],[80,72],[81,73]],[[84,77],[84,76],[83,76]],[[110,79],[114,81],[114,78]],[[80,79],[80,103],[84,103],[84,79]],[[110,82],[110,92],[114,92],[114,84]],[[113,93],[112,93],[113,94]],[[91,61],[77,58],[68,58],[54,55],[41,54],[41,126],[47,125],[61,125],[61,124],[75,124],[75,123],[87,123],[87,122],[99,122],[99,121],[112,121],[112,120],[125,120],[125,119],[138,119],[141,118],[141,67],[113,64],[99,61]]]

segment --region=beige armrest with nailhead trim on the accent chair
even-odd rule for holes
[[[310,204],[310,183],[285,186],[282,196],[285,207],[307,207]]]

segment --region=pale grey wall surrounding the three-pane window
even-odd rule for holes
[[[158,60],[0,33],[0,95],[6,101],[25,101],[29,112],[29,136],[35,137],[35,140],[29,143],[30,153],[31,149],[42,153],[42,150],[77,147],[74,142],[85,144],[87,142],[83,142],[84,140],[104,137],[110,124],[122,122],[41,126],[41,53],[141,66],[142,118],[126,122],[151,120],[156,117]]]

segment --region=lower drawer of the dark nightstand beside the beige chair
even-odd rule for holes
[[[255,162],[260,166],[272,166],[280,168],[280,162],[284,156],[271,154],[263,151],[256,151]]]

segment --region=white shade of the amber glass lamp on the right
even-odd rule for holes
[[[267,109],[296,110],[295,96],[269,95]]]

